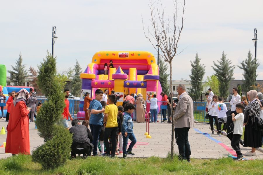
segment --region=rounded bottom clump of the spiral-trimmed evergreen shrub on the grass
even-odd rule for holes
[[[72,134],[61,125],[54,125],[53,138],[32,151],[32,159],[44,169],[65,164],[69,157]]]

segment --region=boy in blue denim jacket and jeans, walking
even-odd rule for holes
[[[133,133],[133,122],[131,118],[131,113],[134,111],[135,106],[132,103],[127,103],[124,106],[125,113],[122,119],[122,137],[123,137],[123,158],[127,158],[127,155],[135,155],[131,152],[131,149],[136,143],[136,138]],[[131,140],[131,143],[129,145],[128,150],[126,151],[127,145],[128,145],[128,139]]]

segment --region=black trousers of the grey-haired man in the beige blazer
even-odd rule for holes
[[[191,148],[188,141],[189,127],[174,128],[176,144],[179,149],[179,159],[190,159]]]

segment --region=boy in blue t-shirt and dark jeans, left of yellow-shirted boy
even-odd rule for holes
[[[97,89],[95,91],[95,99],[91,101],[88,108],[88,115],[90,116],[89,127],[91,130],[91,134],[93,136],[92,144],[94,145],[93,156],[98,155],[97,154],[98,139],[100,136],[102,120],[103,120],[102,113],[105,111],[105,108],[102,108],[102,105],[100,103],[102,97],[103,97],[103,91],[101,89]]]

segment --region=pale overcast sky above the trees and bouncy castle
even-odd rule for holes
[[[145,26],[150,24],[147,0],[0,2],[0,64],[5,64],[7,70],[15,65],[20,52],[27,69],[30,65],[37,68],[46,50],[52,50],[52,25],[57,27],[54,55],[57,55],[58,72],[74,67],[76,59],[84,71],[94,53],[103,50],[145,50],[157,56],[143,33],[141,16]],[[162,4],[166,13],[172,13],[172,1],[163,0]],[[222,51],[233,65],[240,65],[249,50],[254,57],[252,38],[257,28],[257,59],[261,63],[257,79],[262,80],[260,7],[263,7],[260,0],[186,0],[178,51],[186,49],[174,57],[172,79],[190,79],[190,60],[194,60],[196,53],[206,65],[205,77],[214,74],[212,61],[217,62]],[[236,67],[234,77],[242,79],[242,73]]]

